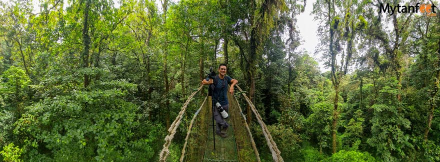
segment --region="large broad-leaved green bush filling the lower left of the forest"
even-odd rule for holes
[[[15,123],[14,134],[35,139],[56,161],[151,159],[152,141],[133,137],[139,127],[137,106],[123,100],[126,92],[77,91],[46,99],[26,108],[28,114]]]

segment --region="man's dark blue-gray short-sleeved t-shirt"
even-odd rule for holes
[[[227,85],[231,83],[232,78],[229,76],[224,76],[223,79],[215,76],[213,79],[215,88],[212,92],[212,104],[215,104],[217,101],[220,105],[227,105],[229,102],[227,101]],[[209,77],[206,78],[206,81],[209,81]]]

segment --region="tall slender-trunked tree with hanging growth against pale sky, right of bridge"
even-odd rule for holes
[[[321,52],[323,52],[323,58],[326,59],[326,66],[329,66],[331,69],[331,82],[335,91],[331,131],[333,154],[336,153],[339,85],[347,73],[348,65],[355,54],[354,39],[367,25],[365,19],[360,16],[363,5],[365,5],[365,2],[342,2],[338,0],[319,0],[313,4],[315,19],[324,23],[319,26],[319,30],[324,31],[319,35],[321,36],[321,45],[328,45],[328,47],[324,46],[325,48],[322,48]],[[355,9],[351,10],[351,8]],[[338,10],[342,11],[342,13],[337,13],[336,11]],[[340,57],[340,65],[337,64],[337,57]]]

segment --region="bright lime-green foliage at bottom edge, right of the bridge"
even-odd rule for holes
[[[321,162],[376,162],[368,153],[341,150]]]

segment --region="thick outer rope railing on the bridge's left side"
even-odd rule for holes
[[[201,88],[203,87],[203,85],[200,85],[200,87],[198,87],[198,89],[193,92],[188,99],[186,100],[186,102],[183,104],[182,108],[180,109],[179,114],[177,115],[177,117],[175,117],[174,122],[172,122],[171,126],[168,128],[168,135],[166,135],[165,137],[165,143],[163,144],[163,149],[162,151],[160,151],[159,154],[159,161],[160,162],[165,162],[166,158],[169,155],[169,146],[171,145],[171,141],[174,138],[174,135],[176,133],[176,129],[178,128],[178,126],[180,125],[180,122],[183,118],[183,114],[186,111],[186,108],[189,104],[189,102],[191,101],[192,97],[194,97],[194,95],[199,92],[201,90]]]

